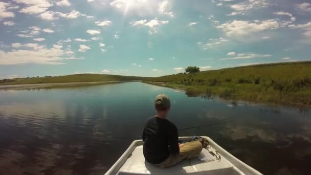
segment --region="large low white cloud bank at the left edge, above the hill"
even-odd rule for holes
[[[51,48],[38,45],[37,43],[12,43],[14,48],[11,51],[0,50],[0,64],[64,64],[61,62],[66,59],[66,54],[62,46],[53,45]]]

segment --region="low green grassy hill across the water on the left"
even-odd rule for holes
[[[39,84],[39,83],[69,83],[69,82],[99,82],[99,81],[132,81],[143,80],[144,77],[103,75],[103,74],[75,74],[55,77],[14,78],[0,81],[0,85],[9,84]]]

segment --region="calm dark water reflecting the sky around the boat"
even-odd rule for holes
[[[0,174],[103,174],[141,139],[153,99],[167,94],[180,136],[210,136],[264,174],[310,174],[311,114],[201,97],[140,82],[0,91]]]

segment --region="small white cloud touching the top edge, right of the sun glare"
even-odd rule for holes
[[[265,0],[247,0],[242,3],[231,5],[230,7],[236,11],[248,11],[251,9],[265,8],[268,6],[269,3],[267,3]]]

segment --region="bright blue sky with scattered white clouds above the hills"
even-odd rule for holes
[[[5,0],[0,30],[0,78],[311,60],[309,0]]]

